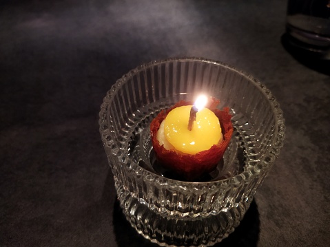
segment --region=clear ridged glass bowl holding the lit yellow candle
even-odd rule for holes
[[[223,160],[200,182],[163,169],[149,125],[163,109],[198,94],[229,107],[234,134]],[[285,136],[280,105],[258,80],[203,58],[141,65],[107,92],[100,133],[123,213],[161,246],[212,246],[234,231],[278,157]]]

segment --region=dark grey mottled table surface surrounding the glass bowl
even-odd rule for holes
[[[116,202],[99,136],[108,89],[153,60],[198,56],[262,81],[285,146],[216,246],[330,246],[330,66],[285,42],[285,0],[1,1],[0,246],[154,246]]]

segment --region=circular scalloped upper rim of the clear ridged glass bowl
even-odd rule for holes
[[[194,57],[194,56],[193,57],[188,57],[188,56],[172,57],[172,58],[151,61],[149,63],[143,63],[141,65],[138,65],[138,67],[131,69],[129,72],[124,74],[121,78],[116,80],[116,83],[114,83],[114,85],[112,85],[110,90],[107,91],[106,96],[103,98],[103,103],[101,105],[101,110],[99,112],[99,130],[101,133],[101,138],[103,140],[103,144],[112,151],[112,148],[109,145],[107,145],[106,141],[105,141],[105,136],[109,136],[109,134],[107,134],[109,132],[109,129],[107,129],[107,127],[106,128],[104,128],[104,127],[107,125],[107,106],[109,106],[112,103],[112,100],[113,100],[114,96],[116,95],[116,93],[118,92],[118,90],[121,88],[121,85],[124,84],[130,78],[132,78],[132,76],[138,74],[138,72],[141,72],[144,69],[147,69],[148,67],[160,65],[163,63],[171,63],[174,61],[190,61],[190,62],[198,62],[198,63],[209,63],[209,64],[217,65],[220,67],[225,67],[225,69],[232,70],[235,73],[240,74],[240,76],[247,78],[247,80],[250,83],[253,83],[254,86],[257,87],[257,89],[259,89],[259,91],[265,95],[265,97],[268,100],[268,103],[271,105],[271,107],[274,111],[274,116],[276,118],[275,125],[276,125],[277,130],[276,130],[276,136],[273,138],[273,140],[269,144],[270,145],[269,150],[267,151],[267,153],[265,153],[265,155],[263,156],[263,159],[258,161],[258,163],[257,163],[257,164],[264,163],[264,165],[262,165],[261,169],[259,168],[259,169],[257,169],[257,171],[254,171],[254,174],[260,173],[261,170],[267,169],[272,163],[274,163],[276,158],[278,158],[278,155],[280,154],[280,149],[282,149],[282,146],[284,144],[283,142],[285,139],[285,118],[283,116],[282,109],[280,109],[280,104],[278,103],[276,98],[273,96],[273,94],[271,94],[270,90],[267,89],[267,87],[265,87],[265,85],[260,83],[260,81],[258,79],[254,78],[247,72],[237,69],[236,67],[231,66],[227,63],[223,63],[221,61],[216,61],[216,60],[212,60],[209,58]],[[105,116],[105,120],[102,120],[102,118],[104,116]],[[112,157],[116,158],[117,162],[123,163],[123,160],[120,160],[118,158],[118,155],[114,155],[112,153]],[[160,180],[166,180],[168,182],[172,181],[172,182],[182,184],[183,186],[185,186],[187,184],[198,184],[198,185],[200,185],[200,184],[215,185],[215,184],[219,184],[219,183],[220,184],[223,184],[223,183],[237,184],[237,182],[245,180],[245,178],[250,176],[248,173],[251,172],[251,169],[256,168],[256,165],[249,166],[247,168],[245,167],[244,170],[242,172],[238,173],[237,175],[234,175],[231,178],[226,178],[223,180],[214,180],[214,181],[209,181],[209,182],[188,182],[188,181],[182,181],[182,180],[174,180],[171,178],[165,178],[161,175],[158,175],[157,173],[153,173],[152,171],[148,171],[147,169],[140,167],[138,164],[135,164],[136,162],[133,162],[135,165],[134,165],[134,167],[131,167],[130,165],[127,165],[127,163],[130,163],[130,162],[133,162],[133,161],[127,157],[127,159],[125,160],[125,164],[126,164],[125,167],[129,170],[133,171],[134,168],[140,169],[142,171],[142,173],[145,174],[145,176],[152,175],[154,177],[154,180],[156,180],[158,178],[159,181]]]

